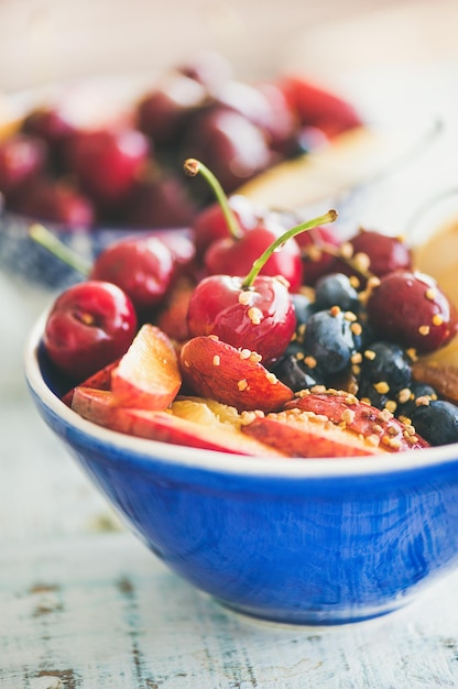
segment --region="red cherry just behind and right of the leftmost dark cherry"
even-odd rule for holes
[[[140,236],[110,244],[96,259],[90,280],[112,282],[141,316],[163,300],[175,269],[171,249],[157,237]]]

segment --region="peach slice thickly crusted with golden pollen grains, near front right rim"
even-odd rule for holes
[[[386,451],[418,449],[428,444],[413,426],[403,424],[388,409],[378,409],[339,390],[305,393],[286,404],[286,409],[298,409],[331,422],[348,434],[370,440]]]

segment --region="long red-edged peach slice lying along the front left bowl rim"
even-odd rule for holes
[[[282,450],[246,436],[229,425],[200,424],[175,416],[172,412],[123,407],[119,397],[110,391],[76,387],[73,409],[111,430],[150,440],[251,457],[286,457]]]

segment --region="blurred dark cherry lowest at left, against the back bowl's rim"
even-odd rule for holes
[[[90,199],[63,179],[36,177],[11,207],[32,218],[62,223],[67,229],[88,228],[95,222]]]

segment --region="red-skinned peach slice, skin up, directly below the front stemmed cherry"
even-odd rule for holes
[[[237,409],[272,412],[294,394],[249,349],[236,349],[212,336],[188,340],[181,351],[183,380],[195,394]]]

